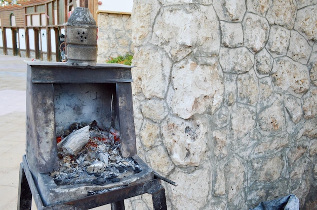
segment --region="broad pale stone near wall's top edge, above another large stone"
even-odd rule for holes
[[[162,46],[176,61],[189,55],[195,49],[192,46],[200,53],[212,55],[220,44],[220,36],[216,14],[211,10],[211,6],[199,5],[161,10],[153,28],[153,43]],[[205,18],[200,18],[202,14],[206,14]]]

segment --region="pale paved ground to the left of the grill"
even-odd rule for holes
[[[0,55],[0,209],[17,209],[19,167],[25,154],[26,63]],[[36,209],[34,202],[32,209]],[[94,209],[111,209],[109,205]]]

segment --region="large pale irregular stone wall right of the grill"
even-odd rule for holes
[[[317,209],[317,2],[135,0],[132,22],[138,154],[178,183],[169,209]]]

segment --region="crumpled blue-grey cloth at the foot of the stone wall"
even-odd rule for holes
[[[298,198],[290,194],[275,200],[260,202],[258,206],[250,210],[299,210]]]

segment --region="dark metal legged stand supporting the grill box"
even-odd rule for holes
[[[155,176],[152,180],[132,186],[122,187],[109,192],[90,195],[84,198],[55,205],[44,206],[41,196],[39,195],[34,183],[30,169],[28,167],[25,155],[23,155],[23,161],[20,164],[18,210],[31,209],[32,196],[38,210],[83,210],[106,205],[109,203],[111,203],[112,210],[124,210],[124,199],[137,195],[142,195],[145,193],[152,195],[154,210],[167,209],[165,189],[161,184],[161,179],[156,178]]]

